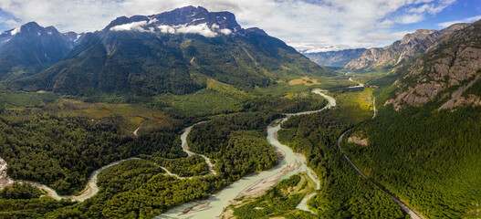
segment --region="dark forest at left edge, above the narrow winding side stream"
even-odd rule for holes
[[[186,156],[180,141],[173,147],[176,132],[132,139],[120,125],[120,117],[92,121],[39,109],[5,110],[0,115],[0,154],[11,177],[45,183],[60,194],[82,190],[90,173],[110,162],[154,151],[166,158]]]

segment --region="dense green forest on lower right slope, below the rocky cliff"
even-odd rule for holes
[[[474,89],[470,89],[474,90]],[[479,107],[437,112],[435,104],[382,108],[361,125],[369,146],[345,151],[375,182],[429,218],[478,218],[481,203]]]

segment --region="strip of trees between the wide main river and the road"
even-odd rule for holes
[[[337,147],[340,133],[355,124],[339,107],[298,116],[282,124],[279,141],[303,152],[321,181],[319,194],[308,204],[319,218],[404,218],[391,198],[361,178]]]

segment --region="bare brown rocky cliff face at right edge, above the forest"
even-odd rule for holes
[[[396,110],[432,100],[445,102],[438,110],[480,105],[481,21],[457,26],[464,27],[441,34],[415,59],[395,82],[395,97],[386,104],[393,104]]]

